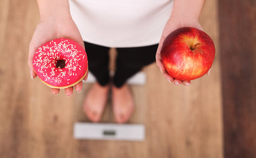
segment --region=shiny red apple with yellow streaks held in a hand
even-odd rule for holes
[[[190,81],[205,75],[212,67],[214,42],[197,28],[179,28],[166,37],[160,55],[170,76]]]

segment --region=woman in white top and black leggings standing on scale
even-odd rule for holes
[[[201,29],[198,18],[204,0],[37,0],[37,3],[41,19],[28,56],[32,79],[36,77],[32,57],[40,45],[55,38],[78,42],[86,49],[89,69],[97,79],[84,101],[84,112],[93,122],[102,116],[109,89],[113,92],[115,120],[127,122],[134,104],[125,81],[155,60],[168,81],[175,85],[191,84],[166,73],[160,50],[166,36],[177,28]],[[113,81],[108,76],[110,47],[118,52]],[[74,87],[82,91],[82,81]],[[59,89],[51,91],[59,93]],[[67,96],[72,93],[73,87],[65,89]]]

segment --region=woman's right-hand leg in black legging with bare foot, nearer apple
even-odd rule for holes
[[[118,48],[114,77],[113,110],[118,123],[127,122],[134,111],[133,96],[125,81],[144,66],[155,62],[158,44],[138,48]]]

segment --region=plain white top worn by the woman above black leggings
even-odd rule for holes
[[[158,44],[172,0],[69,0],[83,40],[108,47]]]

